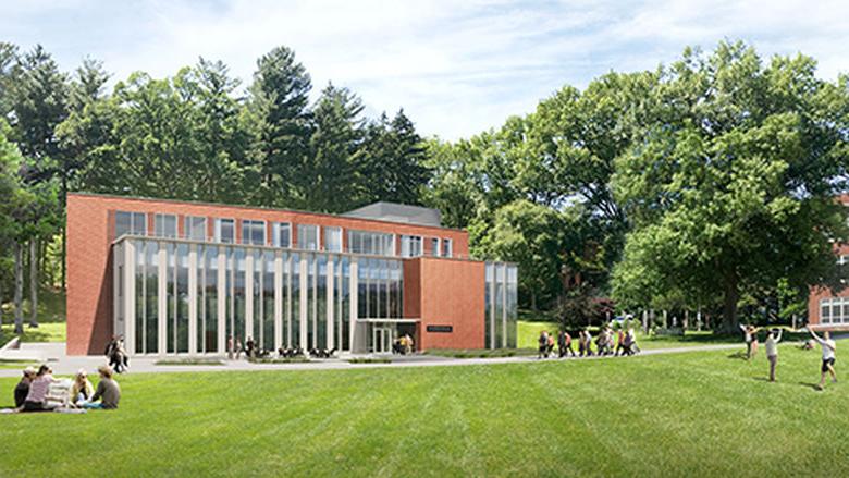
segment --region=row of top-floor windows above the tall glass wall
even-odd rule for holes
[[[315,224],[297,224],[298,249],[342,252],[342,228]],[[186,238],[207,241],[207,218],[198,216],[184,217]],[[370,254],[376,256],[396,256],[395,236],[393,234],[373,231],[347,231],[348,252],[354,254]],[[125,234],[148,235],[147,216],[145,212],[115,212],[115,237]],[[153,236],[177,237],[176,215],[160,215],[153,217]],[[234,219],[216,218],[213,223],[213,242],[235,244],[236,222]],[[432,256],[452,257],[453,244],[450,238],[429,237]],[[242,243],[263,246],[266,241],[266,221],[243,220]],[[323,248],[321,247],[323,243]],[[422,256],[422,237],[418,235],[401,236],[401,256]],[[292,223],[273,222],[271,228],[271,245],[274,247],[293,247]]]

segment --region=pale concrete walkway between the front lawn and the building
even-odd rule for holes
[[[739,344],[719,344],[719,345],[693,345],[685,347],[654,348],[640,353],[642,355],[663,355],[680,354],[686,352],[709,352],[709,351],[730,351],[738,350],[742,352],[745,345]],[[22,344],[19,356],[34,358],[34,361],[47,361],[53,368],[57,376],[73,375],[81,368],[85,368],[89,373],[94,373],[97,367],[107,363],[102,356],[67,356],[65,355],[64,343],[28,343]],[[368,356],[358,356],[358,358]],[[384,356],[385,357],[385,356]],[[5,357],[0,357],[5,358]],[[11,358],[11,357],[10,357]],[[226,360],[224,365],[179,365],[163,366],[155,365],[159,358],[136,357],[130,360],[130,371],[127,373],[168,373],[168,372],[192,372],[192,371],[254,371],[254,370],[350,370],[362,368],[396,368],[396,367],[446,367],[463,365],[492,365],[492,364],[530,364],[537,361],[558,361],[557,358],[540,360],[536,356],[522,357],[499,357],[499,358],[451,358],[435,355],[411,355],[411,356],[392,356],[391,364],[350,364],[348,358],[354,356],[342,356],[332,359],[316,359],[309,363],[300,364],[250,364],[245,359]],[[588,357],[580,360],[610,360],[626,359],[627,357]],[[567,358],[563,360],[576,360]],[[20,377],[21,370],[0,369],[0,377]]]

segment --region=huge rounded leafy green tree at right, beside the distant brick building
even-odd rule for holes
[[[617,295],[723,297],[736,328],[743,294],[763,296],[835,277],[830,240],[847,237],[849,88],[819,79],[811,58],[774,57],[723,42],[686,50],[651,95],[662,109],[616,160],[613,187],[633,223]]]

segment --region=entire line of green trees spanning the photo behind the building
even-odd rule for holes
[[[2,174],[21,194],[0,206],[0,286],[26,260],[62,263],[38,254],[61,254],[66,191],[327,212],[391,200],[435,207],[469,230],[475,256],[518,262],[520,305],[563,321],[663,309],[734,324],[739,307],[778,320],[804,309],[810,286],[840,286],[832,246],[849,237],[834,200],[847,191],[849,82],[815,72],[812,58],[764,60],[740,42],[687,49],[442,142],[403,111],[365,118],[346,88],[310,101],[284,47],[248,85],[201,59],[107,91],[97,61],[67,74],[40,47],[5,44]]]

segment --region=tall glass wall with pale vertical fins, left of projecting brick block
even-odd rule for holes
[[[332,341],[333,347],[348,351],[353,293],[359,295],[359,318],[402,316],[401,260],[181,240],[125,241],[135,245],[131,278],[136,305],[135,317],[128,319],[134,320],[136,354],[225,353],[220,345],[229,343],[231,336],[243,350],[247,338],[253,338],[258,347],[272,350],[279,336],[284,347],[325,348]],[[354,261],[358,263],[359,281],[352,284]],[[274,290],[278,284],[280,291]],[[302,292],[306,297],[304,310]],[[280,305],[274,302],[276,297]],[[219,322],[219,304],[223,322]],[[251,308],[251,329],[247,330]],[[279,322],[275,311],[280,314]],[[306,314],[303,318],[302,312]],[[303,324],[307,328],[304,342]],[[190,330],[196,330],[192,340]]]

